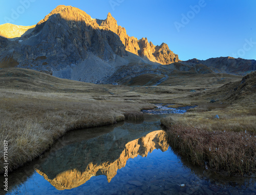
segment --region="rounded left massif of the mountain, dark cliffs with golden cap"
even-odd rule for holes
[[[18,67],[45,72],[78,65],[90,54],[104,61],[126,55],[117,34],[100,29],[95,19],[71,6],[58,6],[37,23],[33,32],[7,40],[0,51],[2,62],[12,57]]]

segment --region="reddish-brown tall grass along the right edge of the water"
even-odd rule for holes
[[[206,165],[229,175],[256,172],[255,134],[208,131],[174,125],[168,131],[170,146],[194,164]]]

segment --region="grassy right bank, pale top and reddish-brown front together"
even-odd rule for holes
[[[219,114],[219,119],[214,118]],[[218,111],[164,118],[170,146],[194,164],[228,174],[256,172],[256,116]]]

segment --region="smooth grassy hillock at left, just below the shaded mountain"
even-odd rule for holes
[[[24,68],[0,69],[1,89],[61,93],[110,93],[108,88],[92,83],[59,79],[43,72]]]

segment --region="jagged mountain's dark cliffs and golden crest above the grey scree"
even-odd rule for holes
[[[6,37],[9,38],[9,36]],[[82,60],[86,58],[86,52],[89,51],[101,59],[109,61],[114,60],[115,55],[123,57],[127,55],[126,51],[129,51],[144,59],[162,64],[178,61],[178,55],[170,51],[166,44],[155,46],[152,42],[148,42],[146,38],[138,40],[135,37],[129,37],[126,34],[126,30],[117,25],[117,21],[110,13],[105,20],[93,19],[86,12],[71,6],[56,7],[37,23],[32,33],[15,40],[16,42],[13,41],[12,46],[17,46],[15,43],[18,42],[22,47],[33,47],[22,48],[22,51],[17,51],[17,48],[15,48],[15,53],[26,54],[25,60],[36,59],[41,56],[51,58],[51,56],[55,56],[57,51],[67,50],[68,48],[65,53],[59,52],[62,58],[67,55],[67,52],[75,52],[79,56],[76,55],[73,58],[79,59],[80,57]],[[11,43],[9,42],[8,44]],[[46,44],[53,49],[47,52],[35,52],[36,50],[47,50],[44,47]],[[57,50],[54,47],[58,47]],[[20,60],[20,57],[18,58],[17,56],[14,56],[14,59],[20,65],[24,64],[21,62],[24,59]],[[28,62],[29,60],[26,61]],[[49,62],[47,63],[49,64]]]

